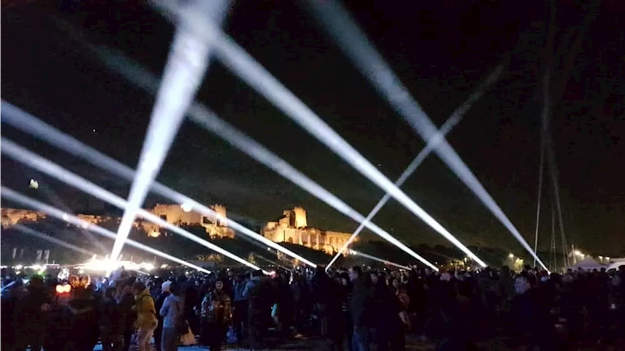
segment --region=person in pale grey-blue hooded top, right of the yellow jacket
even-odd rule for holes
[[[163,317],[161,351],[176,351],[180,339],[178,323],[184,314],[184,300],[180,297],[180,288],[177,283],[168,284],[168,290],[169,295],[165,298],[163,307],[159,311],[159,315]]]

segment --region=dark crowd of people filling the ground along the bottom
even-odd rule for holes
[[[625,270],[560,275],[530,267],[7,275],[0,350],[91,351],[98,342],[105,351],[173,351],[181,342],[261,350],[302,337],[326,340],[329,350],[403,350],[406,335],[436,350],[495,339],[539,350],[620,345],[624,278]]]

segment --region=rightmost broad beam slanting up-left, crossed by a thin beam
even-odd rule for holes
[[[361,71],[377,91],[389,102],[412,128],[428,141],[436,135],[437,129],[434,123],[427,117],[421,106],[414,101],[406,87],[401,84],[399,78],[392,72],[391,67],[384,61],[382,56],[374,49],[366,35],[353,21],[351,16],[336,1],[309,0],[309,5],[314,15],[319,19],[326,31],[334,37],[339,47],[351,58],[356,67]],[[220,49],[221,51],[221,49]],[[317,135],[322,134],[317,131]],[[507,218],[506,214],[497,205],[484,186],[477,180],[471,169],[464,164],[460,156],[447,143],[442,141],[435,150],[443,162],[456,174],[464,184],[482,201],[484,205],[499,219],[517,241],[547,270],[542,260],[534,253],[526,240]],[[463,250],[464,251],[464,250]],[[472,257],[469,255],[469,257]]]

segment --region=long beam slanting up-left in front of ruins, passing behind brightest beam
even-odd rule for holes
[[[158,87],[158,78],[156,76],[151,74],[151,72],[149,72],[148,70],[144,69],[144,67],[141,67],[135,62],[130,61],[121,53],[112,51],[105,47],[91,46],[91,49],[93,49],[94,53],[96,53],[99,59],[107,64],[107,66],[112,67],[122,76],[126,77],[129,81],[133,82],[137,86],[146,89],[146,91],[148,92],[154,92],[154,89]],[[291,182],[294,182],[294,184],[299,185],[300,187],[302,187],[302,189],[307,190],[312,195],[322,200],[323,202],[326,202],[326,204],[334,207],[334,209],[338,210],[342,214],[347,215],[357,222],[363,222],[365,220],[365,217],[362,214],[359,214],[359,212],[349,207],[349,205],[336,197],[336,195],[327,191],[326,189],[321,187],[321,185],[317,184],[312,179],[306,177],[306,175],[294,169],[286,161],[280,159],[271,151],[267,150],[256,141],[253,141],[233,126],[230,126],[226,122],[219,119],[219,117],[209,111],[202,104],[199,104],[199,102],[194,102],[194,104],[192,104],[192,106],[189,108],[188,113],[189,117],[192,120],[206,127],[209,131],[214,132],[216,136],[219,136],[227,142],[231,143],[233,146],[237,147],[237,149],[240,149],[252,158],[256,159],[256,161],[259,161],[265,166],[273,169],[286,179],[291,180]],[[395,239],[391,234],[388,234],[377,225],[371,222],[367,222],[366,227],[367,229],[382,237],[382,239],[385,239],[391,244],[396,245],[397,247],[399,247],[399,249],[421,261],[428,267],[431,267],[434,270],[438,270],[435,265],[428,262],[426,259],[421,257],[421,255],[417,254],[416,252],[414,252],[414,250],[402,244],[402,242]]]

